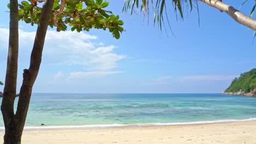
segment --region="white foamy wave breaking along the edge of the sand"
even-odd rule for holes
[[[89,124],[89,125],[53,125],[41,127],[25,127],[24,129],[58,129],[58,128],[110,128],[110,127],[126,127],[126,126],[160,126],[160,125],[189,125],[189,124],[210,124],[225,122],[246,122],[256,121],[256,117],[247,119],[218,119],[214,121],[196,121],[196,122],[173,122],[173,123],[142,123],[142,124]],[[0,127],[3,130],[4,127]]]

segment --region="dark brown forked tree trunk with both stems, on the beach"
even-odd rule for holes
[[[10,7],[13,8],[15,6],[15,10],[18,13],[18,1],[17,0],[10,0],[10,1],[11,1]],[[16,5],[12,4],[13,1],[15,1]],[[14,100],[16,97],[17,72],[16,73],[14,72],[15,70],[17,71],[17,68],[18,68],[18,48],[17,48],[17,51],[14,51],[11,44],[9,44],[9,47],[12,48],[12,49],[9,48],[9,51],[16,52],[17,55],[10,55],[10,52],[8,55],[7,76],[5,78],[6,88],[4,88],[4,97],[2,100],[2,106],[1,106],[1,110],[4,118],[4,127],[5,127],[4,144],[20,144],[21,143],[21,135],[22,135],[22,131],[24,129],[24,125],[27,117],[28,106],[30,104],[32,87],[38,75],[38,71],[39,71],[39,67],[42,59],[45,35],[46,35],[50,15],[51,13],[53,13],[53,4],[54,4],[54,0],[46,0],[43,5],[42,14],[40,15],[36,38],[34,40],[33,50],[31,53],[30,68],[24,70],[23,82],[20,89],[18,107],[15,115],[14,115]],[[14,13],[10,11],[10,15],[14,15]],[[15,20],[17,20],[18,22],[18,14],[15,13],[15,16],[17,18]],[[16,40],[16,39],[13,39],[13,37],[15,37],[16,35],[18,39],[18,24],[15,27],[16,29],[14,28],[11,29],[11,25],[13,24],[15,23],[11,22],[10,20],[10,39]],[[16,33],[11,35],[11,32],[13,31]],[[16,42],[15,44],[17,44],[15,46],[18,47],[18,42]],[[10,56],[13,56],[14,59],[16,58],[15,59],[17,62],[16,65],[9,64],[9,60],[11,59]],[[11,60],[12,60],[11,62],[14,61],[13,59]]]

